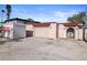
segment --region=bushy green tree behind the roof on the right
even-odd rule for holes
[[[79,12],[78,14],[74,14],[73,17],[69,17],[67,19],[67,21],[69,21],[70,23],[72,22],[77,22],[77,23],[80,23],[83,22],[83,18],[86,17],[86,12]]]

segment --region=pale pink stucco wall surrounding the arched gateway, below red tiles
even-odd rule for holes
[[[58,39],[67,39],[67,29],[73,28],[75,30],[75,40],[83,40],[83,29],[78,26],[64,26],[58,24]]]

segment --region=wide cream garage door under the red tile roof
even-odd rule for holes
[[[34,35],[39,37],[48,37],[48,28],[35,28]]]

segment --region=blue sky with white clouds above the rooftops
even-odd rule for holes
[[[67,18],[86,11],[87,4],[11,4],[11,18],[33,19],[40,22],[67,22]],[[0,20],[7,19],[6,4],[0,4]]]

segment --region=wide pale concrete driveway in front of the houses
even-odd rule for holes
[[[87,43],[26,37],[0,44],[1,61],[86,61]]]

